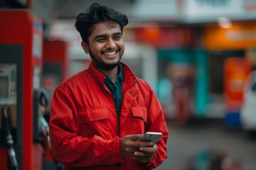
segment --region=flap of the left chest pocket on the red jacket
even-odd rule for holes
[[[85,110],[78,111],[78,123],[92,122],[106,118],[109,118],[107,107],[86,108]]]

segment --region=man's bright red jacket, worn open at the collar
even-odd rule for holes
[[[122,108],[118,123],[105,76],[89,68],[55,89],[50,108],[50,145],[65,169],[151,169],[167,157],[169,135],[154,91],[123,63]],[[129,134],[162,132],[148,164],[122,157],[121,140]]]

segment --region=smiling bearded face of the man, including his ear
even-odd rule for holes
[[[96,23],[88,44],[82,42],[82,48],[90,54],[92,63],[98,69],[104,71],[117,68],[124,54],[124,40],[119,25]]]

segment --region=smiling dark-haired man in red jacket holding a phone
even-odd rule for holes
[[[127,16],[92,4],[75,27],[92,62],[53,94],[50,145],[65,169],[153,169],[167,157],[169,135],[159,101],[122,62]],[[156,143],[139,142],[162,132]]]

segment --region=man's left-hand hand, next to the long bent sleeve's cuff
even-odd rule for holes
[[[134,153],[139,152],[139,148],[147,148],[147,147],[153,146],[152,142],[139,142],[139,140],[142,139],[143,136],[144,135],[142,134],[137,134],[137,135],[127,135],[122,138],[121,148],[122,148],[122,155],[124,158],[134,157]],[[142,153],[144,153],[144,151]]]

